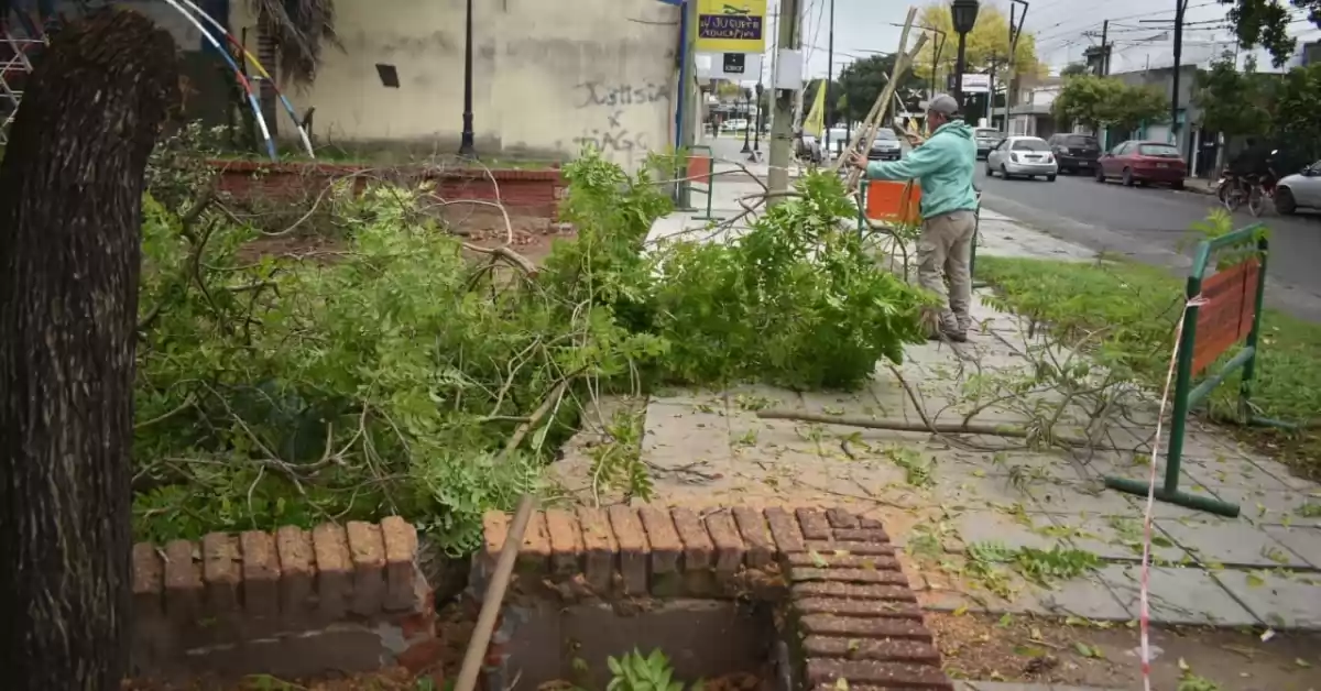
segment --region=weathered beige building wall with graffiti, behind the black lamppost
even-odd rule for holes
[[[231,29],[248,28],[234,3]],[[465,0],[339,0],[343,50],[287,95],[332,144],[457,151],[462,131]],[[679,9],[657,0],[473,0],[473,116],[483,157],[556,157],[584,144],[634,169],[674,127]],[[392,65],[399,89],[380,83]],[[269,66],[268,66],[269,67]],[[283,118],[283,114],[281,114]],[[281,133],[291,127],[281,123]]]

